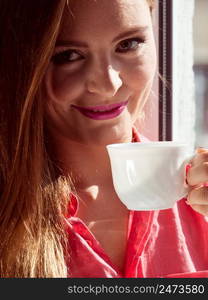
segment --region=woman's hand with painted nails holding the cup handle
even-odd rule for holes
[[[208,149],[197,149],[186,180],[190,187],[187,204],[195,211],[208,216]]]

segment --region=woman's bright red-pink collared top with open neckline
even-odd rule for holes
[[[144,141],[133,130],[133,141]],[[121,273],[82,220],[71,196],[66,219],[72,278],[208,277],[208,217],[185,202],[171,209],[129,211],[125,268]]]

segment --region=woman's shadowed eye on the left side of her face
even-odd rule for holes
[[[83,56],[74,50],[59,52],[52,57],[52,62],[57,65],[71,63],[82,59]]]

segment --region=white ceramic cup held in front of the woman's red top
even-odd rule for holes
[[[188,144],[136,142],[106,147],[115,191],[128,209],[172,208],[187,195],[185,168],[193,157]]]

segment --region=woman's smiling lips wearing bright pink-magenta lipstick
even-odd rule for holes
[[[127,101],[120,103],[97,105],[97,106],[87,106],[81,107],[73,105],[72,107],[82,113],[85,117],[93,120],[109,120],[119,116],[128,104]]]

